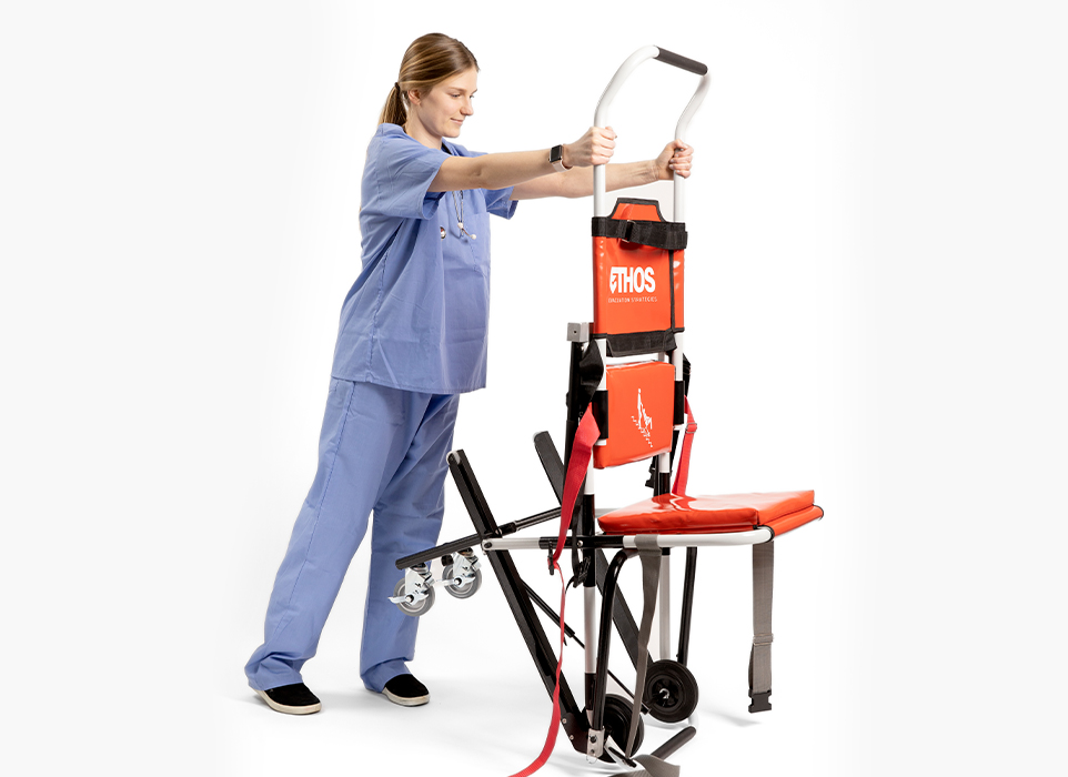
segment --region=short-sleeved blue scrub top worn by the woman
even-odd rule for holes
[[[360,231],[363,271],[341,310],[333,376],[427,394],[486,385],[490,322],[488,213],[511,219],[512,188],[427,192],[450,153],[396,124],[367,147]],[[468,236],[473,235],[473,236]]]

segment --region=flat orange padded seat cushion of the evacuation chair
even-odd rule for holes
[[[678,496],[663,494],[598,518],[605,534],[725,534],[769,526],[776,535],[823,517],[810,491]]]

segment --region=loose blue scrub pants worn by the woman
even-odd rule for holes
[[[263,645],[245,666],[253,688],[302,682],[372,511],[360,676],[381,692],[407,672],[419,618],[387,597],[404,575],[396,559],[437,542],[459,400],[331,380],[319,470],[274,579]]]

